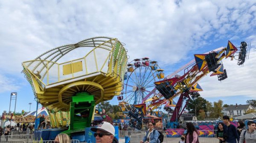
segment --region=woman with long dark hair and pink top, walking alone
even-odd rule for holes
[[[198,132],[196,127],[191,122],[186,123],[187,133],[185,143],[199,143]]]

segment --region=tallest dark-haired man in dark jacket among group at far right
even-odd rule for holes
[[[225,124],[224,138],[226,140],[226,143],[237,143],[237,141],[239,141],[238,132],[236,127],[230,124],[228,116],[223,116],[223,123]]]

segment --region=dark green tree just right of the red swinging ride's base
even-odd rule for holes
[[[196,113],[196,115],[199,115],[200,109],[203,109],[205,112],[207,112],[206,103],[207,100],[205,100],[203,97],[198,97],[195,100],[189,100],[186,109],[190,113]]]

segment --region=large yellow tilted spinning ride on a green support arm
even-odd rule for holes
[[[91,48],[83,58],[57,63],[76,48]],[[127,55],[116,38],[96,37],[60,46],[23,62],[36,98],[50,112],[52,127],[72,136],[91,126],[95,105],[120,95]]]

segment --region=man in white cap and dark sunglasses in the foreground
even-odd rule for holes
[[[115,128],[109,122],[101,122],[97,127],[91,128],[94,131],[96,143],[112,143],[118,140],[114,137]]]

